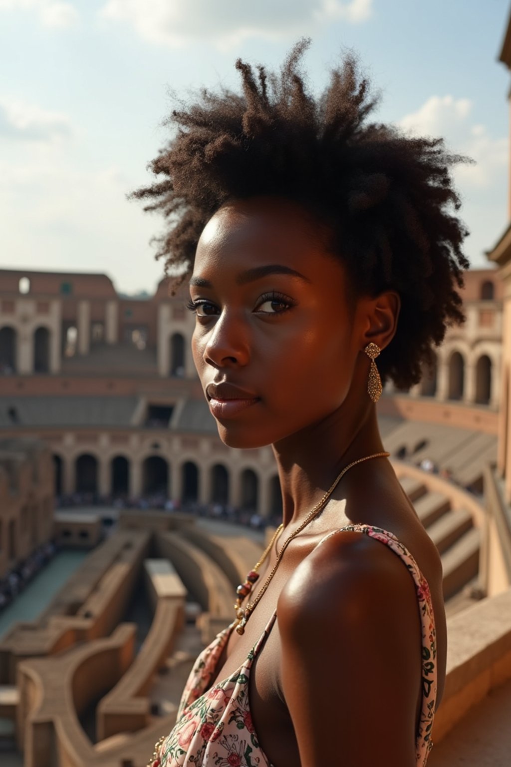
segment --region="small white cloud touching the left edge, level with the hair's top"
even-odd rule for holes
[[[73,133],[70,119],[21,100],[0,100],[0,135],[30,141],[54,141]]]

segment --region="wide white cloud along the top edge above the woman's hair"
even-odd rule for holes
[[[329,21],[357,24],[373,0],[107,0],[100,18],[123,21],[148,42],[180,47],[206,39],[221,48],[246,38],[308,34]]]

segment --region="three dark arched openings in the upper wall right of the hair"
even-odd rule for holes
[[[482,354],[475,365],[475,403],[488,405],[492,397],[492,360]],[[431,369],[424,370],[420,384],[422,397],[437,395],[438,360],[435,355]],[[466,386],[466,364],[462,354],[454,351],[447,360],[447,399],[463,400]]]

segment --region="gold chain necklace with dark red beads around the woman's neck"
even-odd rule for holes
[[[303,528],[306,528],[309,522],[312,522],[313,518],[316,517],[319,514],[319,512],[323,509],[330,495],[332,495],[332,492],[336,489],[340,479],[342,479],[342,477],[346,474],[348,469],[351,469],[352,466],[356,466],[357,463],[362,463],[363,461],[369,461],[372,458],[382,458],[382,457],[388,458],[388,456],[390,456],[390,453],[374,453],[372,456],[365,456],[364,458],[359,458],[356,461],[352,461],[352,463],[349,463],[348,466],[345,466],[344,469],[342,469],[342,472],[340,472],[339,475],[336,477],[332,486],[323,495],[323,498],[320,499],[316,503],[316,505],[313,507],[313,509],[311,509],[309,514],[306,515],[306,518],[303,520],[302,524],[298,528],[296,528],[295,532],[291,533],[290,537],[283,542],[283,546],[280,549],[279,553],[277,554],[277,559],[275,561],[274,567],[272,568],[266,581],[264,581],[264,584],[261,586],[260,591],[257,592],[257,596],[254,598],[254,601],[248,602],[246,607],[241,607],[241,604],[243,604],[245,597],[251,594],[251,591],[254,588],[255,582],[259,578],[258,570],[260,568],[260,565],[263,564],[263,562],[269,555],[271,549],[273,548],[274,542],[276,541],[277,536],[280,535],[280,533],[282,532],[283,524],[280,524],[277,527],[277,530],[274,532],[274,535],[272,536],[270,543],[267,545],[267,548],[265,548],[260,560],[257,562],[256,565],[254,565],[254,568],[252,568],[252,570],[247,574],[247,578],[245,579],[245,582],[243,584],[240,584],[236,589],[237,600],[234,604],[234,610],[236,611],[237,623],[234,625],[236,627],[238,634],[244,634],[247,621],[249,617],[251,617],[251,614],[254,611],[254,607],[256,607],[256,605],[260,601],[260,598],[263,596],[264,592],[267,590],[268,586],[270,585],[270,581],[274,577],[274,574],[277,572],[277,568],[280,564],[280,560],[283,558],[284,551],[286,551],[287,547],[290,545],[290,542],[293,540],[293,538],[296,538],[296,535],[302,532]]]

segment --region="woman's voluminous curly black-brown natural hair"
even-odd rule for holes
[[[352,54],[319,97],[306,87],[300,41],[279,74],[241,60],[242,93],[203,90],[166,121],[177,127],[149,168],[162,181],[137,189],[169,229],[157,239],[165,274],[191,271],[208,219],[230,199],[278,195],[329,226],[358,295],[395,290],[398,329],[378,359],[400,389],[421,379],[447,326],[464,321],[457,288],[467,229],[450,173],[465,158],[440,138],[371,123],[378,103]]]

